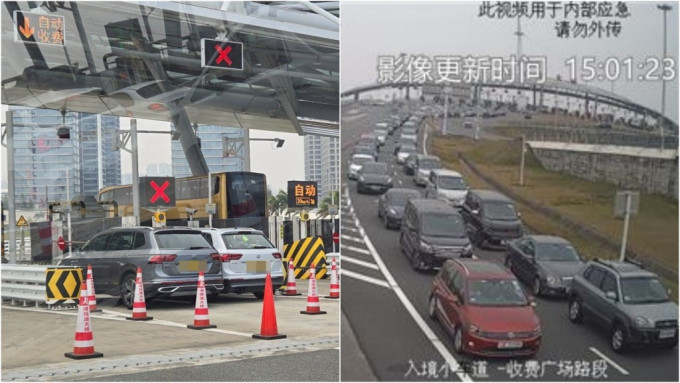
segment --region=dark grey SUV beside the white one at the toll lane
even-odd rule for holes
[[[220,255],[201,232],[186,228],[121,227],[103,231],[59,262],[87,272],[92,265],[95,291],[119,295],[127,308],[134,301],[137,267],[144,296],[196,295],[198,272],[208,293],[224,289]],[[85,274],[83,274],[85,275]]]

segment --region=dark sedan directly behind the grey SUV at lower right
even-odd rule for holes
[[[510,241],[506,251],[505,265],[536,296],[567,294],[574,275],[585,264],[569,241],[549,235]]]

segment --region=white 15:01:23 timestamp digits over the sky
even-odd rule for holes
[[[598,59],[572,56],[564,61],[572,81],[671,81],[676,77],[676,62],[671,57]],[[580,75],[580,76],[579,76]]]

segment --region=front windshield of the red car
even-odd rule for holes
[[[471,305],[525,306],[527,298],[514,279],[475,279],[468,283]]]

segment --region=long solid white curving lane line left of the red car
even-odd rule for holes
[[[349,196],[349,190],[347,191],[347,203],[352,206],[352,201],[350,200]],[[371,242],[371,239],[368,238],[366,235],[366,231],[364,230],[363,226],[361,226],[361,222],[359,222],[359,218],[356,217],[354,218],[355,221],[355,226],[359,229],[359,232],[361,235],[364,237],[364,241],[366,242],[366,246],[368,247],[368,250],[371,252],[371,255],[373,256],[373,259],[375,260],[375,263],[378,265],[380,268],[380,271],[382,274],[385,276],[385,279],[387,279],[387,283],[389,286],[394,290],[394,293],[397,294],[397,297],[401,301],[402,305],[404,305],[404,308],[406,308],[406,311],[408,311],[409,314],[411,314],[411,317],[413,320],[416,322],[418,327],[423,331],[425,334],[425,337],[432,343],[432,346],[439,352],[439,354],[444,358],[444,360],[448,363],[449,367],[454,370],[454,371],[459,371],[460,370],[460,365],[458,364],[458,361],[456,358],[451,355],[449,350],[446,348],[444,343],[437,337],[437,335],[432,331],[430,326],[425,323],[425,320],[423,317],[418,314],[418,311],[416,310],[415,307],[413,307],[413,304],[411,301],[408,300],[408,297],[406,297],[406,294],[401,290],[399,287],[399,284],[397,284],[397,281],[392,277],[392,274],[390,274],[390,271],[387,269],[387,266],[385,265],[385,262],[383,262],[382,258],[380,258],[380,255],[378,254],[378,251],[375,249],[373,246],[373,243]],[[345,270],[345,274],[347,271]],[[472,382],[472,378],[466,373],[462,372],[456,372],[456,375],[458,375],[458,378],[464,382]]]

